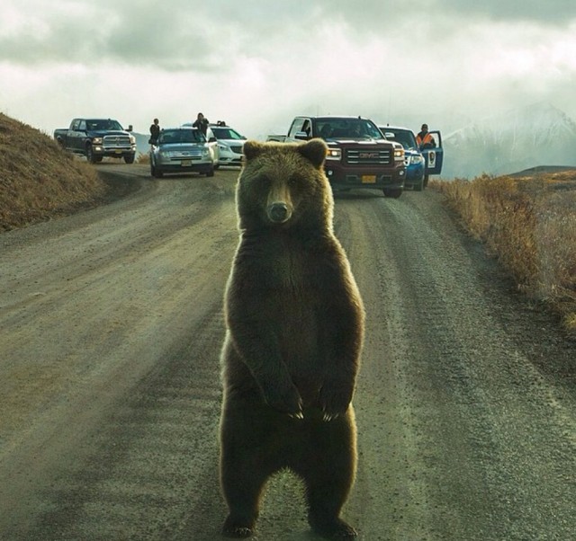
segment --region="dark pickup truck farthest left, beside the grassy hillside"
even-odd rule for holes
[[[88,162],[102,162],[102,158],[124,158],[134,162],[136,138],[123,129],[118,120],[74,119],[69,128],[55,129],[54,138],[60,146],[76,154],[85,155]]]

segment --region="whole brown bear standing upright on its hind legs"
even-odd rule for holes
[[[352,408],[364,307],[333,232],[327,146],[244,145],[240,241],[225,295],[220,483],[227,537],[250,537],[266,480],[299,475],[311,528],[351,538],[340,519],[356,474]]]

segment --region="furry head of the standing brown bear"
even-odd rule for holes
[[[236,190],[240,229],[331,228],[327,149],[321,139],[302,144],[247,141]]]

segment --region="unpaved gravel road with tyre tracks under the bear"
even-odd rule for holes
[[[0,235],[0,539],[220,538],[222,292],[236,171],[150,180]],[[576,538],[576,348],[516,295],[434,191],[338,197],[365,300],[367,541]],[[315,539],[269,483],[257,539]]]

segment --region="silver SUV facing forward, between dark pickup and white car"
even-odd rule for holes
[[[163,129],[150,149],[150,174],[203,173],[214,176],[214,161],[206,137],[195,128]]]

